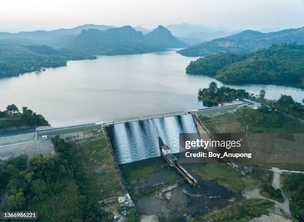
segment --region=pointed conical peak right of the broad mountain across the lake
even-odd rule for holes
[[[184,48],[188,46],[188,44],[175,38],[168,29],[161,25],[145,35],[145,43],[158,48]]]

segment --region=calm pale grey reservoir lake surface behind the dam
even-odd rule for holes
[[[126,117],[202,108],[199,88],[211,81],[186,74],[192,60],[167,51],[141,55],[100,56],[96,60],[69,61],[66,67],[43,73],[0,79],[0,110],[8,104],[27,106],[42,114],[54,127]],[[291,95],[301,102],[304,90],[273,84],[225,84],[245,88],[266,98]]]

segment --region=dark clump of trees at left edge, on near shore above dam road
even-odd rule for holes
[[[11,104],[6,107],[6,110],[0,110],[0,130],[48,125],[48,121],[42,115],[33,112],[27,107],[22,107],[22,112],[19,112],[18,107]]]

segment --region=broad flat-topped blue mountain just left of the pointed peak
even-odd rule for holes
[[[163,50],[144,43],[142,32],[131,26],[111,28],[105,31],[96,29],[82,30],[68,48],[95,55],[140,54]]]

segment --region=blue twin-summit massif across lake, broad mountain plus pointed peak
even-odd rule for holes
[[[186,46],[186,43],[175,38],[161,25],[146,35],[131,26],[104,31],[82,30],[75,39],[65,45],[67,48],[95,55],[138,54]]]

